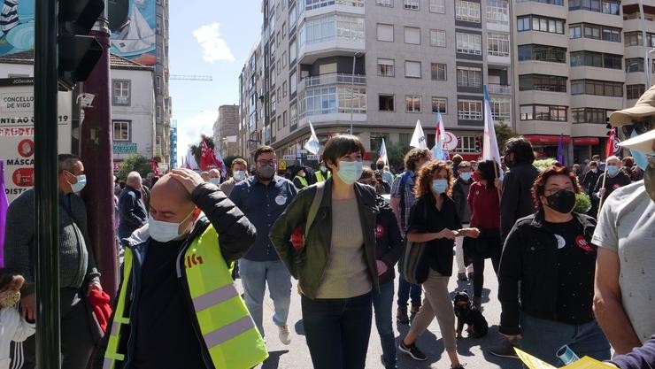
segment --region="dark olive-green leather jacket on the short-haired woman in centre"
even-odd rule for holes
[[[309,234],[305,235],[304,248],[296,251],[290,242],[291,234],[297,227],[304,230],[309,208],[312,205],[316,185],[303,188],[293,199],[269,234],[275,250],[280,255],[289,273],[298,280],[304,296],[316,298],[316,291],[323,281],[323,273],[328,266],[330,245],[332,244],[332,183],[325,182],[325,191],[320,201],[316,218],[312,222]],[[366,269],[375,290],[379,290],[377,264],[375,262],[375,219],[378,208],[375,203],[375,191],[372,187],[355,183],[359,219],[364,234],[364,253]]]

